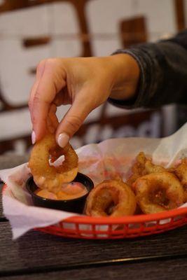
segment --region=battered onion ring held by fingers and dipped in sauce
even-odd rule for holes
[[[62,165],[59,167],[50,165],[50,156],[53,162],[60,155],[64,155]],[[48,133],[34,145],[29,167],[34,177],[34,182],[39,188],[57,193],[62,183],[69,183],[76,177],[78,156],[70,144],[67,144],[64,148],[57,146],[55,134]]]

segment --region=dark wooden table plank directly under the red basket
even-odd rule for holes
[[[1,223],[0,271],[15,274],[20,269],[43,271],[78,267],[99,262],[127,262],[134,258],[187,256],[187,227],[151,237],[121,240],[79,240],[28,232],[16,241],[11,239],[8,222]],[[181,246],[182,242],[182,246]]]

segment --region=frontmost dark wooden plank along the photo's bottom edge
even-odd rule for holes
[[[2,280],[99,280],[99,279],[139,279],[139,280],[184,280],[187,273],[187,258],[179,260],[148,261],[109,265],[107,267],[89,267],[82,269],[62,269],[57,272],[44,272],[2,277]]]

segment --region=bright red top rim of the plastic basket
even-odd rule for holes
[[[2,191],[7,188],[6,183],[2,188]],[[183,216],[186,215],[187,220],[187,206],[181,207],[177,209],[172,209],[169,211],[162,211],[155,214],[141,214],[141,215],[134,215],[134,216],[124,216],[124,217],[90,217],[90,216],[72,216],[70,218],[66,218],[63,223],[84,223],[84,224],[95,224],[95,225],[114,225],[120,223],[145,223],[150,221],[160,221],[167,218],[174,218],[176,216]]]

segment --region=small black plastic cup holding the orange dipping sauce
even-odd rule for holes
[[[79,172],[74,179],[74,182],[82,183],[85,188],[87,188],[88,193],[81,197],[74,198],[73,200],[49,200],[34,193],[34,191],[38,189],[38,187],[36,186],[36,183],[34,183],[33,177],[30,177],[27,180],[26,188],[32,195],[33,204],[37,207],[46,207],[50,209],[58,209],[82,214],[85,207],[86,198],[88,197],[90,190],[92,190],[92,188],[94,187],[94,184],[88,176],[85,176],[84,174]]]

